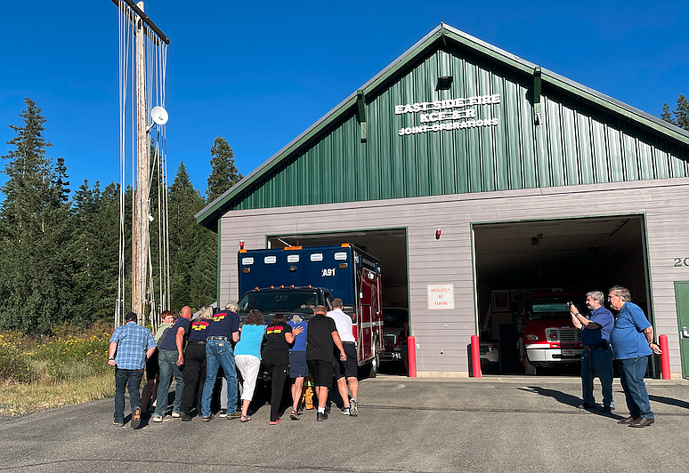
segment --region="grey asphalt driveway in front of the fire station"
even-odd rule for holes
[[[361,413],[315,411],[268,425],[179,420],[112,426],[113,399],[0,419],[0,471],[683,471],[689,384],[649,381],[656,423],[621,426],[618,409],[582,411],[576,378],[481,380],[379,376],[361,381]],[[599,393],[599,389],[597,391]]]

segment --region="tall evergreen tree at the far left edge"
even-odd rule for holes
[[[61,180],[67,170],[61,161],[55,172],[45,156],[52,145],[43,138],[41,109],[34,100],[24,103],[24,124],[10,125],[17,136],[7,144],[14,149],[2,156],[9,163],[0,207],[0,327],[48,333],[72,315],[69,190]]]

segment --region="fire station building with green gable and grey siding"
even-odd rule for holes
[[[220,305],[240,296],[240,241],[375,255],[418,376],[467,376],[474,334],[523,373],[528,294],[623,285],[681,377],[687,217],[689,133],[442,24],[197,220],[219,236]]]

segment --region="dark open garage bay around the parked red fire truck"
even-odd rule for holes
[[[535,373],[537,369],[528,358],[524,365],[524,346],[520,347],[527,299],[533,293],[573,294],[574,303],[585,310],[583,294],[596,289],[605,293],[612,285],[623,285],[652,317],[642,215],[488,223],[473,228],[479,326],[482,340],[499,341],[502,373],[530,373],[530,369]],[[562,352],[557,355],[562,363],[536,363],[539,373],[578,373],[580,350]]]

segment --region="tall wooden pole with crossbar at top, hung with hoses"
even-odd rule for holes
[[[149,277],[149,226],[150,226],[150,141],[147,127],[148,108],[146,103],[146,42],[145,36],[155,44],[170,40],[143,12],[143,2],[134,0],[112,0],[132,22],[136,36],[134,64],[136,69],[136,188],[134,189],[134,235],[132,241],[132,311],[139,316],[139,324],[146,323],[146,283]],[[127,6],[129,8],[127,8]],[[151,125],[152,126],[152,125]]]

